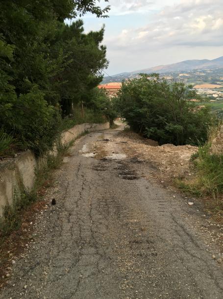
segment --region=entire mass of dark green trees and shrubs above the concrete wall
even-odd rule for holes
[[[1,1],[0,155],[41,154],[69,125],[112,122],[111,103],[96,89],[108,66],[104,27],[84,33],[77,19],[108,11],[95,0]]]

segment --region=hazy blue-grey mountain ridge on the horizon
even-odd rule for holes
[[[134,77],[134,75],[145,73],[145,74],[151,74],[151,73],[159,73],[159,74],[165,74],[165,73],[173,73],[173,72],[190,72],[194,70],[206,70],[206,69],[217,69],[217,68],[223,68],[223,56],[208,60],[185,60],[173,64],[168,65],[160,65],[153,68],[133,71],[129,73],[121,73],[117,75],[113,75],[111,77],[113,78],[120,78],[120,81],[122,81],[125,78],[128,77]],[[108,79],[108,80],[107,80]],[[110,78],[111,79],[111,78]],[[104,77],[104,81],[110,81],[109,77]]]

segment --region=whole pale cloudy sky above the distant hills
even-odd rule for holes
[[[85,30],[105,24],[114,75],[187,59],[223,56],[223,0],[109,0],[108,19],[84,17]],[[106,3],[100,1],[100,6]]]

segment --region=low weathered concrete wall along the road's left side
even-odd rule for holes
[[[109,123],[75,125],[62,133],[61,142],[66,145],[86,130],[93,132],[108,128]],[[18,153],[15,158],[0,162],[0,217],[3,216],[7,204],[13,205],[14,192],[20,190],[21,183],[27,191],[32,189],[35,182],[35,169],[41,163],[40,161],[32,151],[25,151]]]

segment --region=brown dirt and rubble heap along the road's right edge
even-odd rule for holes
[[[161,181],[173,181],[176,177],[190,177],[193,175],[191,156],[198,148],[191,145],[151,146],[151,142],[133,132],[120,132],[118,139],[125,141],[124,151],[138,161],[149,162],[154,175],[151,177]]]

